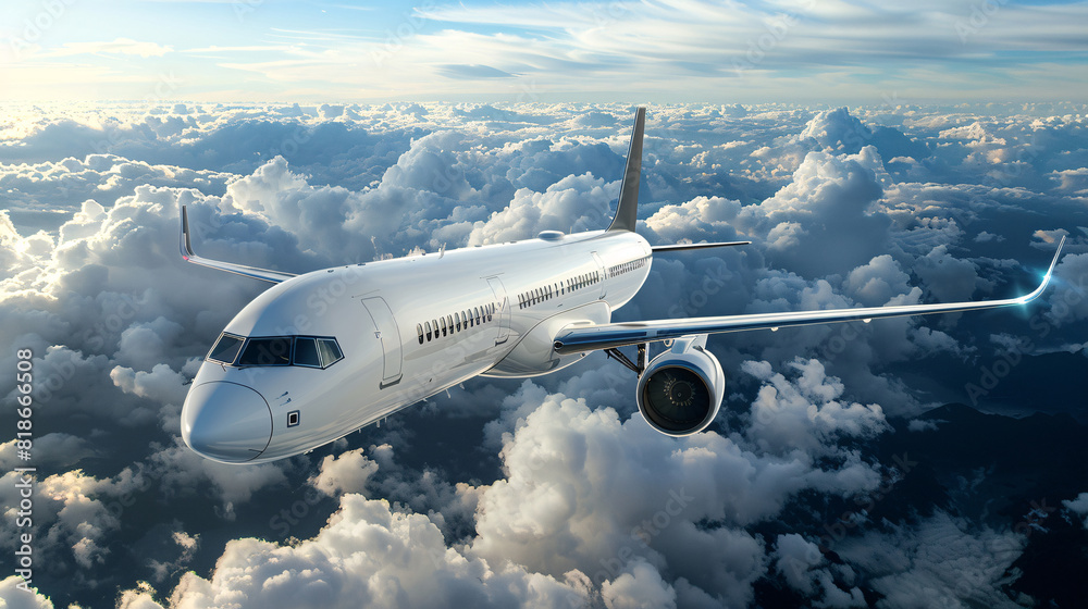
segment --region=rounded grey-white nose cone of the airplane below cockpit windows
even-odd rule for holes
[[[182,439],[214,461],[245,463],[272,439],[272,411],[255,389],[237,383],[203,383],[182,406]]]

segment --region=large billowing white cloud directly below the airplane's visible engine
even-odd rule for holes
[[[675,440],[639,415],[620,422],[610,409],[528,389],[523,399],[543,403],[504,435],[506,478],[462,490],[479,501],[472,551],[491,561],[631,586],[644,561],[743,605],[765,567],[762,543],[738,525],[769,518],[803,488],[853,492],[878,478],[852,458],[820,471],[800,455],[756,455],[718,434]],[[721,524],[696,525],[707,521]]]

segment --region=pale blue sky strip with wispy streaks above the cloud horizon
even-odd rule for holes
[[[0,101],[1039,101],[1088,94],[1067,1],[39,0]]]

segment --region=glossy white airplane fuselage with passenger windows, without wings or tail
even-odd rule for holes
[[[645,282],[652,250],[633,232],[542,237],[274,285],[224,333],[335,338],[343,359],[324,369],[206,360],[182,409],[185,443],[217,461],[272,461],[473,376],[535,376],[580,360],[555,353],[556,332],[608,323]]]

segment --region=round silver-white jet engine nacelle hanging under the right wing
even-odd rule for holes
[[[726,375],[705,347],[705,334],[684,336],[646,366],[635,399],[651,427],[682,437],[702,432],[718,415]]]

